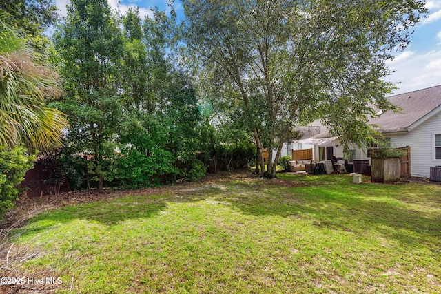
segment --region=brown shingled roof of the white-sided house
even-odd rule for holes
[[[387,98],[393,105],[400,108],[399,112],[391,110],[371,118],[369,123],[376,125],[383,134],[395,132],[410,132],[421,123],[441,112],[441,85],[427,89],[407,92]],[[329,138],[329,127],[321,120],[310,123],[309,128],[319,129],[318,134],[311,138]],[[309,138],[309,137],[308,137]]]

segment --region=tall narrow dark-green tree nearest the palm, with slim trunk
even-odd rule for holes
[[[123,34],[106,0],[72,0],[68,17],[55,34],[62,59],[65,95],[62,109],[70,116],[68,139],[77,152],[92,155],[92,170],[103,187],[104,159],[121,118],[120,70]]]

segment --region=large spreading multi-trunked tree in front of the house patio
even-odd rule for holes
[[[426,11],[416,0],[182,2],[187,48],[214,101],[238,109],[260,155],[269,149],[270,178],[293,127],[311,117],[328,123],[343,146],[365,144],[373,109],[393,108],[385,61]]]

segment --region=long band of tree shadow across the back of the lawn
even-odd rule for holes
[[[236,181],[227,182],[222,187],[205,185],[156,196],[127,197],[64,207],[32,218],[29,225],[23,228],[28,231],[22,233],[36,233],[53,224],[74,219],[87,219],[112,226],[125,220],[156,216],[160,211],[166,211],[167,203],[170,202],[198,202],[212,198],[254,216],[299,216],[311,220],[316,227],[342,230],[360,238],[369,231],[376,231],[384,238],[398,240],[403,246],[424,242],[435,242],[441,246],[440,211],[409,209],[402,202],[406,196],[400,196],[407,193],[405,187],[352,185],[347,176],[291,176],[285,179],[298,180],[311,186],[286,188],[274,185],[271,180]],[[387,195],[388,199],[380,197],[390,191],[393,191],[393,195]],[[441,200],[435,195],[437,191],[439,189],[426,196],[429,202],[440,207]],[[424,204],[421,193],[411,200],[416,205]],[[39,221],[42,222],[32,226]]]

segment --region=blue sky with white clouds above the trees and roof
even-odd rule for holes
[[[69,0],[55,0],[62,15]],[[113,8],[119,0],[109,0]],[[152,15],[150,8],[158,6],[161,10],[167,8],[167,0],[122,0],[121,12],[126,12],[132,6],[139,6],[141,15]],[[396,52],[396,58],[388,65],[393,74],[387,79],[399,83],[394,94],[411,92],[441,85],[441,0],[427,0],[429,18],[423,19],[414,28],[410,45],[403,52]],[[174,2],[178,17],[183,16],[181,1]]]

